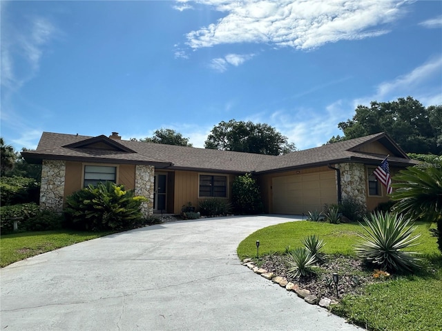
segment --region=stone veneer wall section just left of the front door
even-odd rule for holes
[[[155,167],[152,165],[135,166],[135,195],[142,195],[148,199],[141,205],[145,217],[153,214],[153,183],[155,181]]]

